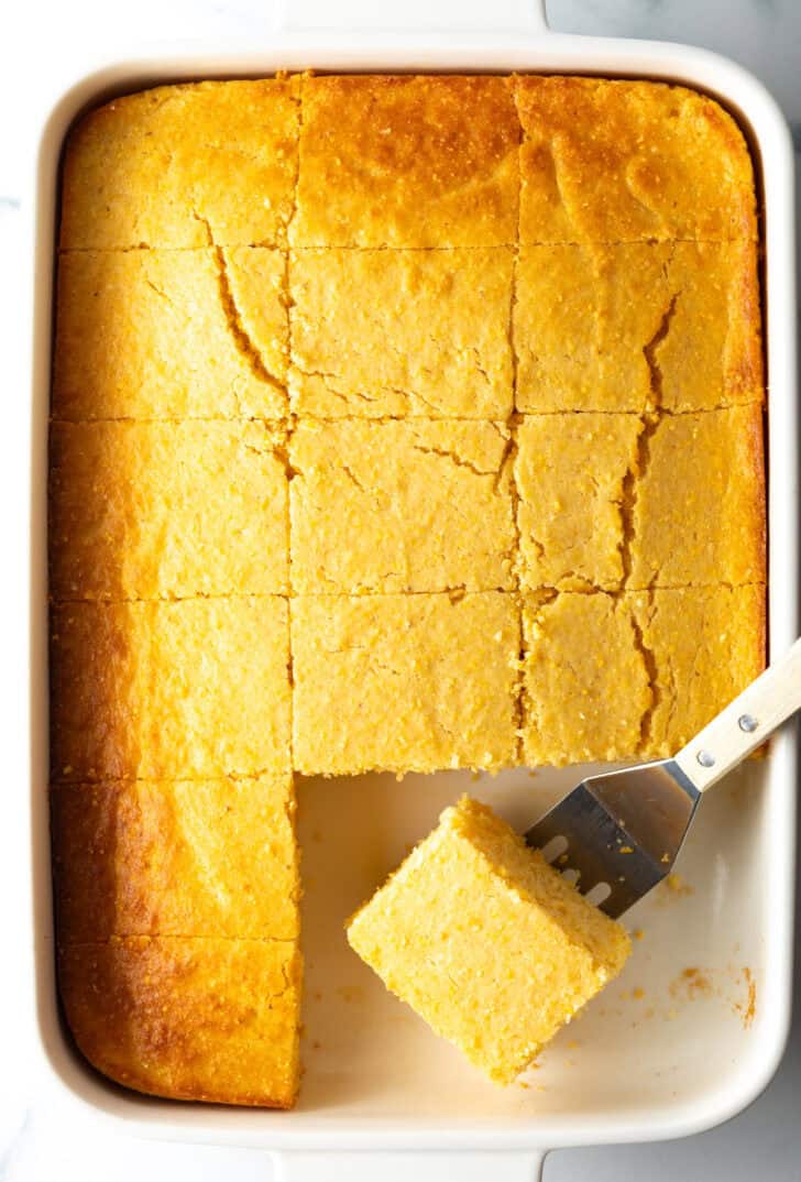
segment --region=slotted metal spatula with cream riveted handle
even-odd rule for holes
[[[584,780],[526,840],[617,918],[670,873],[701,794],[799,708],[801,639],[672,759]]]

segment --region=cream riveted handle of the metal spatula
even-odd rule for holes
[[[801,709],[801,638],[676,755],[703,792]]]

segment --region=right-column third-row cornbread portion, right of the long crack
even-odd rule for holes
[[[669,415],[636,485],[630,587],[763,583],[762,408]]]

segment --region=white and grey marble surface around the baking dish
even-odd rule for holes
[[[26,307],[20,291],[28,259],[22,219],[38,113],[82,70],[143,40],[246,34],[258,40],[278,0],[27,0],[4,12],[0,44],[0,346],[4,427],[0,433],[0,537],[5,558],[5,606],[0,615],[0,719],[4,749],[24,741],[19,686],[27,660],[15,621],[22,608],[27,522],[19,487],[19,433],[26,391],[21,371]],[[293,0],[286,0],[288,5]],[[306,11],[313,5],[304,0]],[[438,0],[429,0],[436,8]],[[489,5],[490,0],[486,0]],[[373,0],[378,11],[382,0]],[[319,0],[326,24],[333,0]],[[769,86],[793,125],[801,152],[801,5],[797,0],[549,0],[548,19],[561,32],[659,38],[706,46],[743,63]],[[2,785],[6,811],[0,830],[0,1182],[195,1182],[271,1178],[271,1163],[253,1150],[222,1150],[138,1142],[110,1131],[90,1116],[69,1111],[31,1064],[22,991],[17,967],[28,939],[27,918],[15,907],[20,858],[21,785]],[[801,986],[801,957],[796,954]],[[799,1182],[801,1180],[801,1019],[773,1083],[751,1108],[721,1129],[682,1142],[552,1154],[547,1182]],[[443,1178],[456,1177],[443,1161]],[[325,1167],[320,1178],[325,1182]]]

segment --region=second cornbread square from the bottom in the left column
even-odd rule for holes
[[[54,786],[59,941],[297,939],[293,816],[288,772]]]

